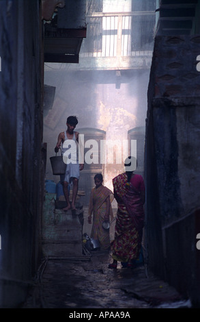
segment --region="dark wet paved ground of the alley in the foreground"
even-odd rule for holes
[[[190,302],[158,278],[135,269],[109,269],[111,253],[83,260],[44,260],[23,308],[189,308]]]

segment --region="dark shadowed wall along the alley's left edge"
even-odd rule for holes
[[[0,1],[1,308],[25,300],[40,258],[40,24],[40,1]]]

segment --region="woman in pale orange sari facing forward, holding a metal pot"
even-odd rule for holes
[[[91,238],[98,240],[101,249],[109,249],[110,233],[109,230],[104,230],[102,223],[113,219],[113,210],[111,202],[114,199],[113,193],[109,188],[102,185],[102,174],[98,173],[94,176],[96,187],[91,190],[88,223],[91,223],[91,214],[93,213],[93,225],[91,228]]]

